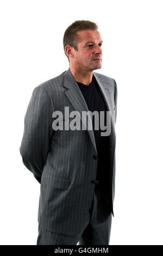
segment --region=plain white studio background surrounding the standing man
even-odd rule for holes
[[[110,245],[163,245],[162,1],[1,1],[1,245],[36,245],[40,184],[23,165],[33,89],[68,69],[62,38],[98,24],[102,68],[117,82],[116,191]]]

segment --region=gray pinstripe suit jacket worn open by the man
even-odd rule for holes
[[[115,123],[117,86],[113,78],[93,72],[111,111],[108,145],[108,171],[112,190],[112,215],[115,195]],[[97,155],[93,130],[53,130],[52,113],[89,111],[70,68],[35,87],[24,117],[20,147],[23,164],[40,182],[38,221],[55,233],[76,235],[89,220],[95,189]],[[82,120],[81,120],[82,121]],[[109,196],[109,195],[108,195]]]

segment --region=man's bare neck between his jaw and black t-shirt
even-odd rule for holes
[[[70,71],[77,82],[84,83],[86,86],[89,86],[92,81],[93,71],[73,69],[71,66]]]

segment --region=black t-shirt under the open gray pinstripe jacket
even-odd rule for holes
[[[86,84],[77,82],[84,99],[86,101],[87,107],[89,111],[104,111],[104,125],[106,126],[106,108],[105,101],[103,99],[103,95],[99,86],[97,84],[96,78],[93,75],[92,81],[89,86]],[[99,112],[100,117],[100,112]],[[100,129],[99,123],[99,130],[95,130],[95,119],[92,116],[92,127],[93,132],[95,135],[96,141],[96,148],[97,148],[97,155],[98,155],[98,162],[97,162],[97,176],[96,180],[108,180],[109,177],[109,136],[101,136],[101,132],[105,132],[106,130]]]

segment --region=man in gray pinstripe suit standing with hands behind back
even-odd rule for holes
[[[109,245],[117,87],[113,78],[93,72],[102,66],[97,29],[96,23],[84,20],[66,29],[70,68],[33,90],[24,118],[20,153],[41,184],[37,245]],[[70,115],[65,115],[65,107]],[[76,123],[85,129],[72,128],[74,111]],[[87,115],[87,123],[82,119],[83,113],[93,111],[104,113],[98,117],[103,127],[110,120],[108,136],[102,136],[101,126],[95,129],[100,121],[95,116]]]

